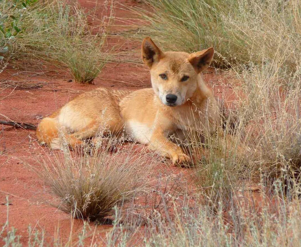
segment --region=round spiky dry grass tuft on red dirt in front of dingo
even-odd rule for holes
[[[114,205],[146,187],[145,171],[156,158],[144,151],[133,155],[134,144],[110,154],[114,144],[111,140],[106,148],[95,147],[93,154],[65,148],[63,154],[42,160],[43,177],[59,197],[61,210],[76,218],[101,219],[110,215]]]

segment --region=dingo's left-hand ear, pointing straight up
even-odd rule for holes
[[[153,63],[158,62],[163,52],[155,45],[150,37],[146,37],[141,46],[142,60],[145,65],[151,68]]]

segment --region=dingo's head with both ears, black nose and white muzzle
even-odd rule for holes
[[[150,37],[142,42],[142,59],[151,69],[152,87],[167,106],[182,105],[193,96],[197,76],[208,68],[213,53],[212,47],[191,54],[162,52]]]

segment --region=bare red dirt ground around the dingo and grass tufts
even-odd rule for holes
[[[99,0],[98,3],[104,1]],[[79,0],[79,3],[91,9],[95,3]],[[115,16],[131,18],[132,14],[125,10],[123,5],[140,5],[135,1],[119,0],[116,3]],[[116,20],[114,31],[131,28],[133,20],[127,22]],[[134,21],[135,22],[135,21]],[[93,23],[93,21],[91,21]],[[95,23],[93,23],[95,24]],[[119,25],[119,26],[118,26]],[[115,51],[126,51],[137,49],[138,43],[133,43],[123,38],[108,38],[108,47],[114,45]],[[64,69],[53,71],[51,69],[26,72],[7,68],[0,75],[4,79],[29,82],[45,82],[39,89],[20,90],[18,88],[7,88],[0,91],[0,119],[15,122],[37,124],[42,117],[63,106],[70,99],[82,91],[87,91],[99,86],[113,88],[139,89],[150,87],[150,76],[147,68],[142,64],[135,63],[107,63],[101,74],[95,79],[95,85],[79,85],[75,82],[67,82],[72,79]],[[16,75],[16,73],[19,73]],[[216,95],[222,95],[227,99],[233,99],[231,87],[225,82],[225,76],[216,74],[214,70],[204,75],[206,82],[210,85]],[[36,160],[41,159],[49,153],[47,147],[40,147],[35,141],[34,131],[16,129],[10,126],[0,126],[0,225],[6,222],[6,196],[9,198],[9,224],[17,228],[17,234],[21,235],[21,242],[28,240],[27,228],[45,230],[46,242],[51,243],[57,228],[60,229],[62,241],[66,241],[70,234],[70,215],[52,207],[48,202],[54,196],[48,191],[43,180],[30,168],[29,165],[39,169]],[[29,164],[29,165],[28,165]],[[187,177],[189,169],[178,168],[159,162],[154,170],[172,173],[175,176]],[[73,233],[81,229],[83,222],[75,220]],[[94,227],[91,224],[92,228]],[[98,226],[98,242],[104,243],[105,235],[110,226]]]

